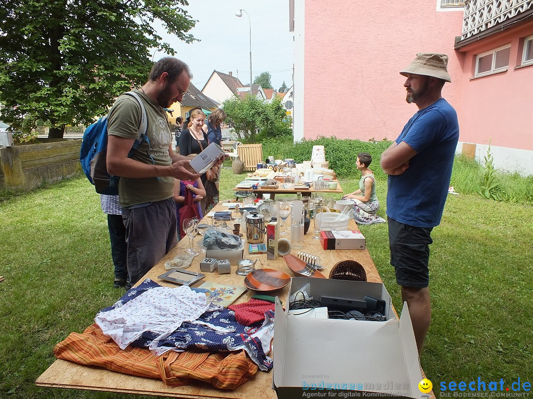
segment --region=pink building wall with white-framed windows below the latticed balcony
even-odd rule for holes
[[[461,78],[463,94],[459,106],[459,140],[478,145],[488,145],[490,141],[494,148],[527,150],[516,152],[516,156],[526,155],[524,162],[529,160],[530,173],[533,173],[533,65],[516,68],[522,61],[520,38],[531,35],[533,22],[478,40],[461,49],[464,54],[464,73]],[[473,78],[476,56],[507,44],[511,44],[507,71]],[[495,162],[500,165],[510,161],[515,164],[518,160],[495,156]]]

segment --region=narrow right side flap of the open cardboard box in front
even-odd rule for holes
[[[407,302],[403,302],[400,315],[400,339],[411,385],[411,396],[418,397],[420,395],[418,383],[422,380],[422,372],[420,371],[415,333],[413,332],[413,323],[411,322]]]

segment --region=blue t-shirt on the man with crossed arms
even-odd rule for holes
[[[459,139],[457,113],[440,98],[418,111],[396,139],[416,151],[409,168],[389,176],[387,216],[406,225],[439,225]]]

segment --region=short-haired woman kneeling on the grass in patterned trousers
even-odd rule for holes
[[[353,219],[358,225],[372,225],[372,223],[385,223],[376,212],[379,201],[376,196],[376,179],[374,172],[368,169],[372,156],[366,152],[357,154],[356,167],[361,171],[359,189],[342,197],[343,200],[353,201]]]

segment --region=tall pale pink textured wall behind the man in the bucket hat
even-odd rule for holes
[[[449,55],[453,83],[445,85],[443,96],[458,104],[462,72],[454,38],[461,35],[462,10],[439,12],[436,0],[305,0],[301,8],[303,16],[296,0],[295,139],[302,134],[365,141],[397,137],[417,110],[405,102],[405,78],[398,72],[418,52]],[[300,32],[297,24],[302,20]],[[303,37],[303,65],[296,61],[297,35]],[[304,72],[302,84],[298,68]],[[298,119],[300,101],[303,121]]]

